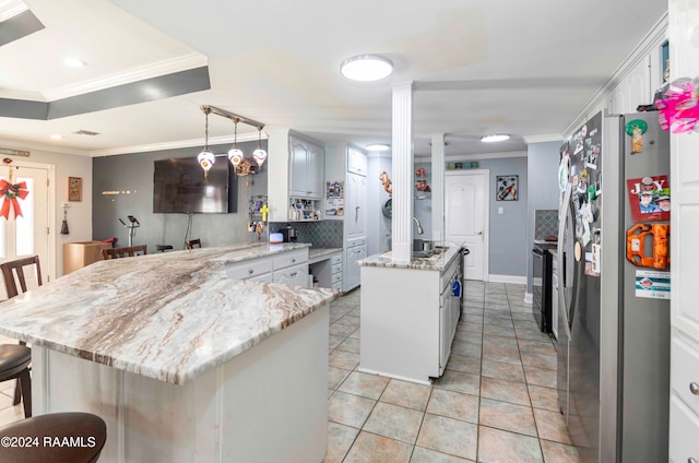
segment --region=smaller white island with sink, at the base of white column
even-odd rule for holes
[[[424,384],[442,375],[461,313],[461,246],[438,249],[410,262],[390,251],[358,262],[360,371]]]

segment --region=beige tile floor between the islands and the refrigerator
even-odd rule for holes
[[[422,385],[357,371],[359,290],[330,311],[324,463],[578,462],[556,399],[556,348],[525,287],[467,282],[447,371]]]

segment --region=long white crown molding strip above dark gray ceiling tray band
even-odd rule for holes
[[[175,72],[187,71],[208,66],[209,60],[204,55],[190,54],[182,57],[163,60],[153,64],[134,68],[127,72],[109,75],[104,79],[81,82],[75,85],[66,85],[58,88],[48,90],[42,95],[48,102],[69,98],[71,96],[83,95],[91,92],[97,92],[105,88],[111,88],[118,85],[130,84],[145,79],[167,75]]]

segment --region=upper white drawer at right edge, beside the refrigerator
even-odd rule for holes
[[[675,337],[672,340],[670,365],[672,366],[670,383],[673,385],[673,392],[699,415],[699,352]],[[696,394],[692,393],[692,389]]]

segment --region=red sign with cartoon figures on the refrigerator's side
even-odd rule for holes
[[[633,222],[670,221],[670,182],[666,175],[626,180]]]

